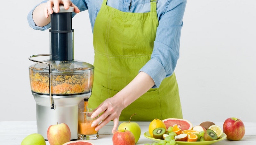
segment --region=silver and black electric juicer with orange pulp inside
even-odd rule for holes
[[[54,7],[53,7],[54,11]],[[36,101],[37,132],[47,141],[50,125],[66,123],[71,140],[77,140],[78,105],[92,94],[94,66],[74,59],[72,12],[60,5],[51,14],[50,54],[29,57],[36,62],[29,66],[30,87]],[[39,61],[34,57],[49,56]]]

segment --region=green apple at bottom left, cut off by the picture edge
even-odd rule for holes
[[[46,145],[43,135],[34,133],[31,135],[26,136],[21,145]]]

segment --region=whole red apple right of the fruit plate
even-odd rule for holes
[[[227,135],[228,140],[238,141],[244,137],[244,123],[238,118],[230,117],[224,121],[223,132]]]

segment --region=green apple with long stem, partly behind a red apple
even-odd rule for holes
[[[136,113],[135,113],[136,114]],[[135,114],[132,114],[135,115]],[[129,130],[132,132],[132,134],[134,135],[135,137],[135,143],[138,142],[139,138],[140,138],[140,126],[138,123],[136,122],[131,122],[131,118],[132,116],[130,117],[130,121],[129,122],[123,122],[121,123],[119,126],[118,126],[118,130],[119,129],[125,129],[126,130]]]

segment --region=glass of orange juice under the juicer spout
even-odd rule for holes
[[[87,108],[78,110],[78,138],[82,140],[95,140],[99,138],[99,131],[95,131],[95,127],[91,127],[92,121],[91,118],[94,109]]]

